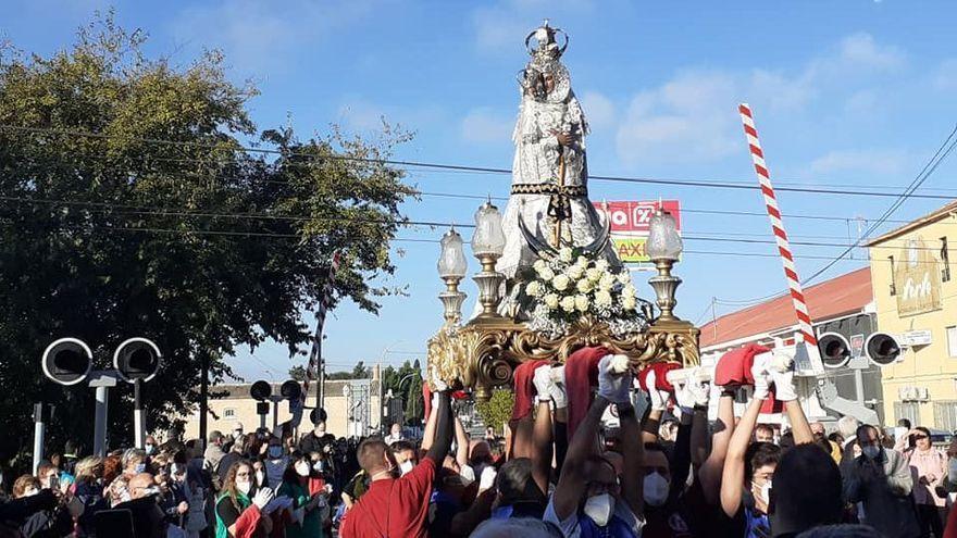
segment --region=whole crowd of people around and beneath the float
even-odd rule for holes
[[[713,379],[666,366],[633,378],[602,348],[524,363],[504,436],[473,439],[436,381],[421,439],[237,424],[105,458],[67,448],[5,491],[0,538],[957,536],[957,442],[809,423],[782,351],[731,352]]]

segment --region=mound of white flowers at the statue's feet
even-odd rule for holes
[[[638,299],[627,270],[614,273],[607,260],[581,249],[566,247],[550,260],[537,260],[522,277],[518,301],[531,313],[532,330],[568,334],[583,316],[607,323],[614,336],[648,326],[650,303]]]

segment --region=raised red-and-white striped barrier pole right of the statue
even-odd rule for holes
[[[791,245],[787,242],[787,233],[784,230],[784,222],[781,220],[781,210],[778,209],[778,198],[774,196],[774,187],[771,185],[771,173],[768,172],[768,165],[765,163],[765,152],[761,151],[761,142],[758,141],[758,130],[755,128],[755,117],[751,109],[747,103],[741,103],[737,107],[741,113],[741,121],[744,123],[744,133],[747,136],[748,147],[751,153],[751,160],[755,163],[755,173],[758,175],[758,183],[761,185],[761,193],[765,196],[765,208],[768,210],[768,218],[771,220],[771,232],[774,233],[774,239],[778,241],[778,252],[781,254],[781,262],[784,264],[784,277],[787,280],[787,287],[791,289],[791,302],[794,305],[794,313],[797,315],[798,331],[801,335],[809,365],[799,370],[809,370],[816,373],[823,372],[821,363],[821,354],[818,350],[818,338],[815,336],[815,329],[811,326],[811,316],[808,313],[807,301],[804,298],[804,290],[800,287],[800,278],[797,276],[797,268],[794,266],[794,254],[791,252]]]

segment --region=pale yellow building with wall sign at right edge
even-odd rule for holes
[[[878,330],[902,345],[882,371],[884,416],[957,429],[957,281],[948,242],[957,241],[957,202],[868,245]]]

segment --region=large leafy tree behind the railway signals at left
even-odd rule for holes
[[[87,341],[97,367],[127,337],[157,341],[164,365],[144,392],[164,428],[197,401],[202,358],[215,383],[239,345],[306,353],[302,314],[335,251],[331,306],[374,313],[401,292],[376,283],[410,192],[381,159],[407,135],[259,130],[257,90],[229,82],[222,55],[181,66],[144,42],[108,14],[52,55],[0,50],[0,455],[28,449],[40,399],[58,408],[51,447],[90,447],[91,391],[40,374],[55,338]],[[132,392],[111,391],[111,446],[132,440]]]

